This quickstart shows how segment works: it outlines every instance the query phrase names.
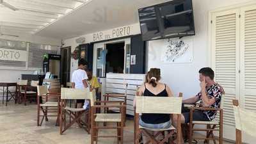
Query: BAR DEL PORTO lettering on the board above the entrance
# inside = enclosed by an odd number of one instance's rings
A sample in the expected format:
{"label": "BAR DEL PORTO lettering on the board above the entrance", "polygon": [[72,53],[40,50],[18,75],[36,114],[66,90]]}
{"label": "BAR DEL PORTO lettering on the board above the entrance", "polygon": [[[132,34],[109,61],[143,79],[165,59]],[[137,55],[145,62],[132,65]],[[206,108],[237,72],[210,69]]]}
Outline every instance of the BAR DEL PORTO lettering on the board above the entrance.
{"label": "BAR DEL PORTO lettering on the board above the entrance", "polygon": [[93,42],[101,41],[101,40],[109,40],[112,38],[119,38],[119,37],[129,36],[129,35],[131,35],[131,27],[124,26],[121,28],[113,29],[111,32],[109,31],[109,33],[103,33],[103,32],[93,33]]}

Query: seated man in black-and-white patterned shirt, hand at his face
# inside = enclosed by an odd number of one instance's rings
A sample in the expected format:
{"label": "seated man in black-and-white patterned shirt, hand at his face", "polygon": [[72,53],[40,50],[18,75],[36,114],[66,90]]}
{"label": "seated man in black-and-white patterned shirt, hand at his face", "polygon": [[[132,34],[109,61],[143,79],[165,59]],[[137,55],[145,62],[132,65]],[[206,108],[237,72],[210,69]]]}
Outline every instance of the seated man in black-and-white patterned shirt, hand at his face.
{"label": "seated man in black-and-white patterned shirt, hand at his face", "polygon": [[[214,71],[209,67],[204,67],[199,70],[200,92],[189,99],[183,100],[184,104],[195,104],[199,102],[198,107],[219,108],[221,95],[224,94],[220,84],[214,82]],[[193,120],[196,121],[211,121],[215,118],[217,111],[195,111]],[[189,109],[182,106],[181,123],[189,123]],[[177,116],[174,123],[177,124]],[[182,143],[184,143],[182,139]]]}

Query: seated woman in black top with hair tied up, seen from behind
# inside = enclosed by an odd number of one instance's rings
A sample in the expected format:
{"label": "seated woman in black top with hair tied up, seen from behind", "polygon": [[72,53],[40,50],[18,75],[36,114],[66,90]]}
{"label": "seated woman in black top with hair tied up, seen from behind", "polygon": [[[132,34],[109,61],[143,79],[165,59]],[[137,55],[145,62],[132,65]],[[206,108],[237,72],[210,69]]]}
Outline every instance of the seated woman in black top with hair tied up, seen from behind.
{"label": "seated woman in black top with hair tied up, seen from behind", "polygon": [[[159,68],[150,68],[147,73],[147,81],[139,88],[138,96],[172,97],[172,90],[166,84],[159,82],[160,73]],[[135,104],[134,100],[134,107]],[[171,125],[170,115],[145,113],[141,115],[139,124],[152,129],[165,129]]]}

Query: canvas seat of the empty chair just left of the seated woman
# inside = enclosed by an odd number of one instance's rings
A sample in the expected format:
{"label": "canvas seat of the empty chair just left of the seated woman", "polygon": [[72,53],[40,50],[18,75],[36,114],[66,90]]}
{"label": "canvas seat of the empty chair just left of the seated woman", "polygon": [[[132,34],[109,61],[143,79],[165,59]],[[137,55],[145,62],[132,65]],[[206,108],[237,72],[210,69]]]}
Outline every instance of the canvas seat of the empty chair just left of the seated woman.
{"label": "canvas seat of the empty chair just left of the seated woman", "polygon": [[95,122],[121,122],[120,113],[97,113]]}

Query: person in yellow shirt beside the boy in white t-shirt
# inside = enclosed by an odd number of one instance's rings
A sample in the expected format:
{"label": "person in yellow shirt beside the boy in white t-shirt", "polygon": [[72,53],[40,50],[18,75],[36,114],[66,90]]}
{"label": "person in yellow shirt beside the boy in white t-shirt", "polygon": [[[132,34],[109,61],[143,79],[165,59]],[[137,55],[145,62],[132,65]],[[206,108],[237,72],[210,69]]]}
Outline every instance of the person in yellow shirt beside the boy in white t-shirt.
{"label": "person in yellow shirt beside the boy in white t-shirt", "polygon": [[88,83],[90,84],[90,88],[96,90],[97,100],[99,100],[99,97],[100,97],[99,88],[101,87],[100,83],[99,83],[97,77],[92,76],[92,70],[90,70],[90,69],[86,70],[86,74],[88,76]]}

